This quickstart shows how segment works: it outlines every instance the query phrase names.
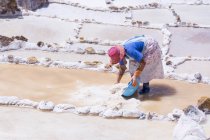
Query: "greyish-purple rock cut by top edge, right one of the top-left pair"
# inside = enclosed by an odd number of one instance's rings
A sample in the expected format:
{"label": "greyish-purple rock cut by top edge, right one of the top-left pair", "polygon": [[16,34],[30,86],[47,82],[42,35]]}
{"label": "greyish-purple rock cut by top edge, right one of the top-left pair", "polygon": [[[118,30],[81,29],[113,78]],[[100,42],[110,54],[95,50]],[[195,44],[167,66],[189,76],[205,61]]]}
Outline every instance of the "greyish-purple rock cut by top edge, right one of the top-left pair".
{"label": "greyish-purple rock cut by top edge, right one of the top-left pair", "polygon": [[48,4],[48,0],[17,0],[17,5],[28,10],[36,10]]}

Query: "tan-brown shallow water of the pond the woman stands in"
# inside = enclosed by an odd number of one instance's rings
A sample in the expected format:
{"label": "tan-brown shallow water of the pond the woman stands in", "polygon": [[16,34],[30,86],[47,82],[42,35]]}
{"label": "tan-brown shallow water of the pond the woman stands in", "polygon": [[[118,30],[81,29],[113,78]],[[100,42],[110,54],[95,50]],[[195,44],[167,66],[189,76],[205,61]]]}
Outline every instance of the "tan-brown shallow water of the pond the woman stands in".
{"label": "tan-brown shallow water of the pond the woman stands in", "polygon": [[[4,64],[0,65],[0,73],[1,96],[17,96],[35,101],[50,100],[55,103],[74,103],[81,106],[94,105],[93,98],[103,101],[104,93],[100,92],[100,87],[113,86],[116,78],[115,74],[110,73]],[[126,84],[129,79],[128,75],[125,76],[122,83]],[[91,90],[90,93],[81,92],[82,89],[93,86],[97,90],[99,88],[99,92],[94,90],[92,94]],[[145,97],[140,102],[139,108],[166,114],[174,108],[182,109],[190,104],[195,105],[199,97],[209,96],[209,91],[210,86],[205,84],[153,80],[152,96]],[[76,96],[75,93],[77,93]],[[88,93],[88,96],[84,93]],[[111,102],[115,101],[118,102],[115,99],[111,100]]]}

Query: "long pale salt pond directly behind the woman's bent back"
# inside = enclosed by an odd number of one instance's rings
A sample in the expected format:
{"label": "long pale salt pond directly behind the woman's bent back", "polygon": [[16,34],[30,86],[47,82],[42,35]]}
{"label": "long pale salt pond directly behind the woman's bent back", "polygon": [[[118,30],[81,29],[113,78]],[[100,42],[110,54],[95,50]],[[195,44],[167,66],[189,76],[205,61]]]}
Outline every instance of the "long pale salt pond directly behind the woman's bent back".
{"label": "long pale salt pond directly behind the woman's bent back", "polygon": [[101,40],[124,41],[136,35],[150,35],[154,37],[159,44],[162,44],[162,33],[158,29],[146,29],[137,27],[102,25],[102,24],[84,24],[79,36],[84,38],[98,38]]}

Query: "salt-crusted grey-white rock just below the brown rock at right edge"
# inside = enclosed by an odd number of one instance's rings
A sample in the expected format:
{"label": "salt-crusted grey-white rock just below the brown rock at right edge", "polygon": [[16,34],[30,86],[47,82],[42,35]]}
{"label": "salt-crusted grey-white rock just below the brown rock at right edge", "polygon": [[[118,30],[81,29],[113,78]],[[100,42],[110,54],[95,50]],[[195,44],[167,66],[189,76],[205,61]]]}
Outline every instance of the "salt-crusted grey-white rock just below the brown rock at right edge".
{"label": "salt-crusted grey-white rock just below the brown rock at right edge", "polygon": [[198,123],[204,122],[206,120],[205,113],[199,110],[195,106],[190,105],[187,108],[185,108],[183,111],[187,117],[191,118],[192,120]]}

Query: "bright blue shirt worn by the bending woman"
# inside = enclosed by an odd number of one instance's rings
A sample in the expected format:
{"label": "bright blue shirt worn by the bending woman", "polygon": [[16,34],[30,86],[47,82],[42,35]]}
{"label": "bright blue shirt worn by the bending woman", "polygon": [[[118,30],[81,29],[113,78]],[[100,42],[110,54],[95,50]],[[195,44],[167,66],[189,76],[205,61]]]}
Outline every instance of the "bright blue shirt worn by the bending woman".
{"label": "bright blue shirt worn by the bending woman", "polygon": [[[144,36],[135,36],[129,40],[127,40],[124,44],[123,47],[125,49],[125,54],[126,57],[131,57],[137,62],[141,62],[143,58],[142,51],[144,49],[144,42],[140,41],[139,38],[142,38]],[[120,65],[124,65],[123,60],[121,60]]]}

